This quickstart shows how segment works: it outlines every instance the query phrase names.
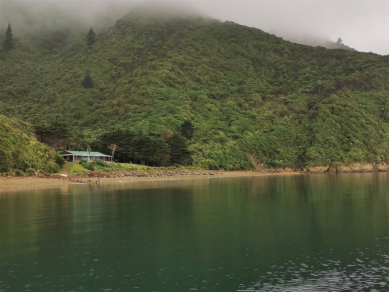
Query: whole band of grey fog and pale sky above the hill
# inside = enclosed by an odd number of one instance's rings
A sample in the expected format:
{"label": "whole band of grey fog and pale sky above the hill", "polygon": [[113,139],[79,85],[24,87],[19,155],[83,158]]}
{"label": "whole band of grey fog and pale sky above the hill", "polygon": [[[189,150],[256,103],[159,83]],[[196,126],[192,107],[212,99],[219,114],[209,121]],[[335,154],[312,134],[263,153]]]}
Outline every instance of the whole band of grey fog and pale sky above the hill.
{"label": "whole band of grey fog and pale sky above the hill", "polygon": [[[9,23],[14,36],[24,28],[63,25],[104,31],[148,0],[0,0],[1,33]],[[256,27],[291,41],[318,45],[325,40],[357,51],[389,55],[388,0],[176,0],[158,1],[169,11],[201,13],[221,21]],[[60,17],[65,16],[65,17]]]}

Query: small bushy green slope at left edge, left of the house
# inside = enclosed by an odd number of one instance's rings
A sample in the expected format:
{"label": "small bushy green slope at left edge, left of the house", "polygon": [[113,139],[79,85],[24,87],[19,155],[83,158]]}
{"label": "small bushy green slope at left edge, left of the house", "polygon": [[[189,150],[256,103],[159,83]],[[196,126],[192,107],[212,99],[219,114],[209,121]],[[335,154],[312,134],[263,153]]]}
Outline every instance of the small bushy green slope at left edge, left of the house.
{"label": "small bushy green slope at left edge, left of the house", "polygon": [[0,115],[0,172],[21,175],[57,172],[64,160],[34,138],[31,125]]}

